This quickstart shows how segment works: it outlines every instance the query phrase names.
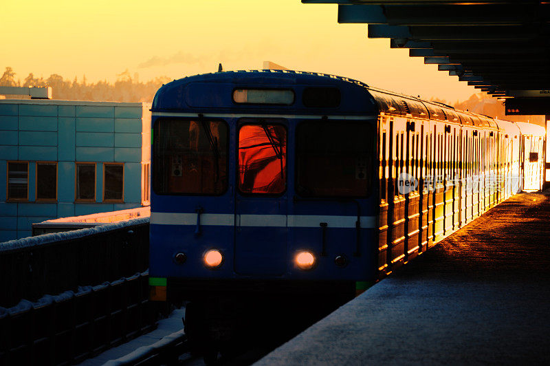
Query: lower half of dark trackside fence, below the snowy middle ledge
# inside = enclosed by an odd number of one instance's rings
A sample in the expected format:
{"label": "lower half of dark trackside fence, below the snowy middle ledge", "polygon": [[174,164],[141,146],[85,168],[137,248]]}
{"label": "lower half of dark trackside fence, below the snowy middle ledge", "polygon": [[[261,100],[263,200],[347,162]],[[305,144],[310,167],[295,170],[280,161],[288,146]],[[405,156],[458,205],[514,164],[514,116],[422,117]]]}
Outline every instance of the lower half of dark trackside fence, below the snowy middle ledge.
{"label": "lower half of dark trackside fence, below the snowy middle ledge", "polygon": [[148,272],[0,310],[0,365],[80,363],[155,327]]}

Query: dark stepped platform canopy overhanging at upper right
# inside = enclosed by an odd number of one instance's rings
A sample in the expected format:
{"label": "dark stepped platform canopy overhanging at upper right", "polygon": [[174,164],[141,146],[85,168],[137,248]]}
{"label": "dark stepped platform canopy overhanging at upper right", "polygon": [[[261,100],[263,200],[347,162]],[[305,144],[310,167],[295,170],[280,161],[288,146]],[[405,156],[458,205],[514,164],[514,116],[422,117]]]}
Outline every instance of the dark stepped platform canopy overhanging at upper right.
{"label": "dark stepped platform canopy overhanging at upper right", "polygon": [[550,0],[302,2],[338,3],[338,23],[368,23],[369,38],[493,96],[549,95]]}

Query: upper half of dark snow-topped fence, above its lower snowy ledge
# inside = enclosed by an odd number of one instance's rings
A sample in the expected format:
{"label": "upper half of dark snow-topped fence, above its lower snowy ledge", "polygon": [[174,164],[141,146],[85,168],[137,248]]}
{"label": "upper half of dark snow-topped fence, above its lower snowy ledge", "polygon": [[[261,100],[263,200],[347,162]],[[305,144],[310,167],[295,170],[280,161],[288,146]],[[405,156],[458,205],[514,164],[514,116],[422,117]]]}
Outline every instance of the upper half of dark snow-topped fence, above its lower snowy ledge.
{"label": "upper half of dark snow-topped fence, above its lower snowy ledge", "polygon": [[148,217],[0,244],[0,307],[148,268]]}

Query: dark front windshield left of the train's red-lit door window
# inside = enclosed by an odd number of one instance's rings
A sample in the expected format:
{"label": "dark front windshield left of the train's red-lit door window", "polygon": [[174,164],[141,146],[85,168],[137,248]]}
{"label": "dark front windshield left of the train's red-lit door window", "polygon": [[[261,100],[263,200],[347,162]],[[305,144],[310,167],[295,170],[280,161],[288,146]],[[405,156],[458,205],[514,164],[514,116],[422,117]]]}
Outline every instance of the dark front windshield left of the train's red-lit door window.
{"label": "dark front windshield left of the train's red-lit door window", "polygon": [[219,120],[162,119],[153,132],[158,194],[220,195],[228,186],[228,126]]}

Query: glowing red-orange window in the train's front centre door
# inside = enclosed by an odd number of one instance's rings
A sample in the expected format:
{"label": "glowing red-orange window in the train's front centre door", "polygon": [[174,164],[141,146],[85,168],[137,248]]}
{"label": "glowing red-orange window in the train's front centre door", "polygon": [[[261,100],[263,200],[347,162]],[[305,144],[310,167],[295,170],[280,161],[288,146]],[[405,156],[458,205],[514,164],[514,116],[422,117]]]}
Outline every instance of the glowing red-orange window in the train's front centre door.
{"label": "glowing red-orange window in the train's front centre door", "polygon": [[239,129],[239,191],[280,194],[286,189],[287,130],[283,125]]}

